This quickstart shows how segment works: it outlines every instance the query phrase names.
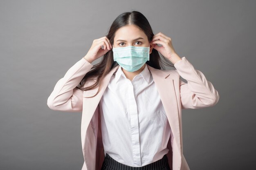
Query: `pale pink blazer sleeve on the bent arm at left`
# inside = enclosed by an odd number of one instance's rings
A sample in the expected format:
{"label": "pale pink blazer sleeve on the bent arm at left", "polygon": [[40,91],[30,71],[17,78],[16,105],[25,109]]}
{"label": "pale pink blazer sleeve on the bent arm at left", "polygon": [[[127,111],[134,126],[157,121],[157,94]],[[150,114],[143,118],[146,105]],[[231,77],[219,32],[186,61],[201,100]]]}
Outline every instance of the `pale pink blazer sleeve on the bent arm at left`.
{"label": "pale pink blazer sleeve on the bent arm at left", "polygon": [[56,83],[47,99],[48,107],[52,110],[81,112],[83,110],[83,91],[76,86],[92,66],[85,58],[76,62]]}

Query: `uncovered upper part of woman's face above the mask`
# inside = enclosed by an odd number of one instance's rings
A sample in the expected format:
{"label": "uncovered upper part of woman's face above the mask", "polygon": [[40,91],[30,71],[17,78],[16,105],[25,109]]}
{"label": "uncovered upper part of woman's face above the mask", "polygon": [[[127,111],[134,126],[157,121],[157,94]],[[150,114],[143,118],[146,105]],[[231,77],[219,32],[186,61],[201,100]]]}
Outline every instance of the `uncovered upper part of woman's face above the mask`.
{"label": "uncovered upper part of woman's face above the mask", "polygon": [[150,44],[150,51],[152,51],[152,43],[148,42],[146,34],[135,25],[123,26],[118,29],[114,37],[114,48],[125,46],[144,46],[148,47]]}

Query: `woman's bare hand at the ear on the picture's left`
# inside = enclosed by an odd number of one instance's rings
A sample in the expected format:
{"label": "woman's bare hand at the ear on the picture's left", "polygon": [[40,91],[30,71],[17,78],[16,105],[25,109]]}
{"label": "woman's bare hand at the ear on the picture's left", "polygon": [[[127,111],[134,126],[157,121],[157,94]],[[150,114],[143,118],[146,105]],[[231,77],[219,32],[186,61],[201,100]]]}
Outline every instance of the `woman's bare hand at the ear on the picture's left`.
{"label": "woman's bare hand at the ear on the picture's left", "polygon": [[[104,46],[104,48],[102,49],[101,46]],[[102,55],[106,54],[111,49],[112,45],[110,44],[110,40],[106,36],[101,37],[99,39],[93,40],[92,46],[84,58],[91,63]]]}

